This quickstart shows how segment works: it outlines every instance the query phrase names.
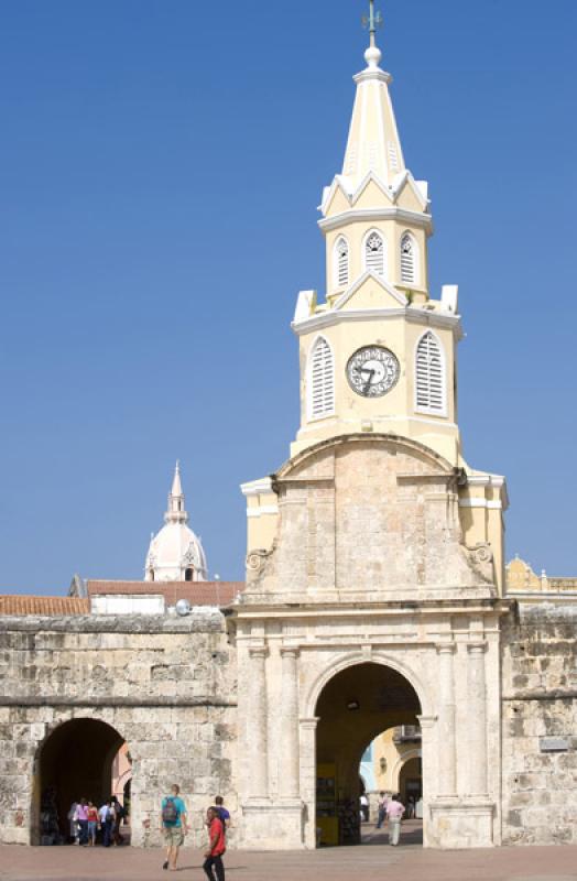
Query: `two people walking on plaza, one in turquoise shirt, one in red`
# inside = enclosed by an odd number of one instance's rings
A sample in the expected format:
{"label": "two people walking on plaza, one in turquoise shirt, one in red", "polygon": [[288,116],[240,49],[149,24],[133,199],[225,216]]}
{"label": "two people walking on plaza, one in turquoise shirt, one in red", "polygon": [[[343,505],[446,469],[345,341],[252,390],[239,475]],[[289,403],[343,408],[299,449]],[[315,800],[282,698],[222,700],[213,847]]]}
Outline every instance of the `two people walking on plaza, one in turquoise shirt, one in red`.
{"label": "two people walking on plaza, one in turquoise shirt, one in red", "polygon": [[[222,796],[217,795],[215,804],[206,812],[208,846],[204,853],[203,869],[209,881],[225,881],[222,856],[227,849],[226,835],[229,825],[230,814],[225,807]],[[178,850],[188,831],[186,805],[181,798],[181,788],[176,783],[171,786],[171,794],[162,800],[161,830],[166,844],[166,859],[162,868],[175,872]]]}

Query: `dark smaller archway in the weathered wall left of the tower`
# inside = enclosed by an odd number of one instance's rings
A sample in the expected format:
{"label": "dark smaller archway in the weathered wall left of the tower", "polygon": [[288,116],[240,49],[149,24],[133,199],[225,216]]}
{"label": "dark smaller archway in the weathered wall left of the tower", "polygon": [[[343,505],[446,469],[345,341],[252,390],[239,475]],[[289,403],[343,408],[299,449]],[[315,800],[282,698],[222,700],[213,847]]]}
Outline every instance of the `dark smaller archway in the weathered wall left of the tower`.
{"label": "dark smaller archway in the weathered wall left of the tower", "polygon": [[119,758],[123,747],[121,735],[98,719],[70,719],[48,735],[35,764],[33,845],[68,842],[70,805],[84,797],[100,807],[117,794],[115,772],[128,754]]}

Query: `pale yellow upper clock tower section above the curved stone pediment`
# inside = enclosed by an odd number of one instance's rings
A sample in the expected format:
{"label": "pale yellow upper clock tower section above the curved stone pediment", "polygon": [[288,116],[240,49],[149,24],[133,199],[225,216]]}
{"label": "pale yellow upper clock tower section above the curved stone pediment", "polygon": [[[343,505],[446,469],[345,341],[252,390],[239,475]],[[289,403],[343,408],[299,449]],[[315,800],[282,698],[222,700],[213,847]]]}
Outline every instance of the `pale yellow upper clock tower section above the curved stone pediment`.
{"label": "pale yellow upper clock tower section above the curved stone pediment", "polygon": [[301,427],[291,453],[338,435],[392,433],[458,465],[458,290],[429,291],[427,184],[405,165],[372,12],[370,23],[342,171],[320,203],[326,296],[301,291],[292,324]]}

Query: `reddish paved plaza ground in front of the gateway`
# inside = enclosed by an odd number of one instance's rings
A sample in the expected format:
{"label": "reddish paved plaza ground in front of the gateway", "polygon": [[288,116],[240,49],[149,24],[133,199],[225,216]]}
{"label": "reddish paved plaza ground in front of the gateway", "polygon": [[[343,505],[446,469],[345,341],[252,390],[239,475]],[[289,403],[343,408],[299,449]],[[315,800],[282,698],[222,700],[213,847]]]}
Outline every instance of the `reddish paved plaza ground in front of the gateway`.
{"label": "reddish paved plaza ground in front of the gateway", "polygon": [[[577,847],[423,850],[418,824],[407,822],[401,845],[369,830],[360,847],[311,852],[230,851],[228,881],[576,881]],[[404,844],[403,844],[404,841]],[[0,847],[1,881],[203,881],[198,850],[184,848],[177,873],[163,872],[160,850],[138,848]]]}

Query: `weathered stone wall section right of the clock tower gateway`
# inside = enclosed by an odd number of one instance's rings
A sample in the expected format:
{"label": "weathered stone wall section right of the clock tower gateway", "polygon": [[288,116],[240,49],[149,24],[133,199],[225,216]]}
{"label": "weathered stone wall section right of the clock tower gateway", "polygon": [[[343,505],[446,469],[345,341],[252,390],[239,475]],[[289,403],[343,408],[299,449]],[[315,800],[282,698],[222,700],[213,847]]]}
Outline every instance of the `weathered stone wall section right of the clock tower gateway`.
{"label": "weathered stone wall section right of the clock tower gateway", "polygon": [[576,635],[577,606],[503,623],[503,844],[577,842]]}

